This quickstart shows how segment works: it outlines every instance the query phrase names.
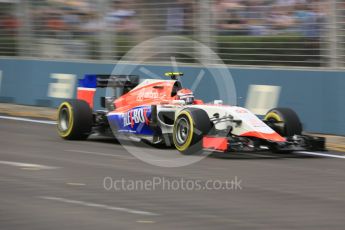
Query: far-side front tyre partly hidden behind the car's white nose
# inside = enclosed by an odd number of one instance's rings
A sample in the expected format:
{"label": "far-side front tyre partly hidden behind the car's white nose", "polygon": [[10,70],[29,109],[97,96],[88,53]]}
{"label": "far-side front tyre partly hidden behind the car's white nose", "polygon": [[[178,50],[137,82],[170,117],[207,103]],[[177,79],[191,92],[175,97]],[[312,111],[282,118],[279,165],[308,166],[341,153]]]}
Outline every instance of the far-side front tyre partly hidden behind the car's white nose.
{"label": "far-side front tyre partly hidden behind the car's white nose", "polygon": [[264,120],[270,123],[272,128],[284,137],[302,134],[302,124],[296,114],[290,108],[274,108],[267,112]]}

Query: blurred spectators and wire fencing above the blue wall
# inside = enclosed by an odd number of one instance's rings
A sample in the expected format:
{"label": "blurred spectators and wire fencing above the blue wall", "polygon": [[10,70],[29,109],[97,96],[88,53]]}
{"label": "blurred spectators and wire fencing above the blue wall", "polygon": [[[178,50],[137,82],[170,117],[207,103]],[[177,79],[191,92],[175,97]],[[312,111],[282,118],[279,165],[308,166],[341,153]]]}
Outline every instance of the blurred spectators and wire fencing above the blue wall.
{"label": "blurred spectators and wire fencing above the blue wall", "polygon": [[226,64],[344,68],[345,1],[0,1],[0,56],[119,60],[162,35],[200,41]]}

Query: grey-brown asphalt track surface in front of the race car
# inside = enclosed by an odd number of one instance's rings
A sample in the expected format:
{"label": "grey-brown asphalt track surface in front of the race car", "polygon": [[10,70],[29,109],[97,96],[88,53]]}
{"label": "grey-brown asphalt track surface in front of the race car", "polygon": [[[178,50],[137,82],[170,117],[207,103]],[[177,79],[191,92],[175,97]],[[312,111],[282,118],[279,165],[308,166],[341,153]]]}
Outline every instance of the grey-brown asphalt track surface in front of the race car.
{"label": "grey-brown asphalt track surface in front of the race car", "polygon": [[[0,146],[0,229],[345,226],[343,159],[246,154],[243,159],[209,157],[187,167],[160,168],[137,160],[116,143],[67,142],[57,137],[52,125],[2,119]],[[242,190],[103,188],[105,177],[224,181],[235,176]]]}

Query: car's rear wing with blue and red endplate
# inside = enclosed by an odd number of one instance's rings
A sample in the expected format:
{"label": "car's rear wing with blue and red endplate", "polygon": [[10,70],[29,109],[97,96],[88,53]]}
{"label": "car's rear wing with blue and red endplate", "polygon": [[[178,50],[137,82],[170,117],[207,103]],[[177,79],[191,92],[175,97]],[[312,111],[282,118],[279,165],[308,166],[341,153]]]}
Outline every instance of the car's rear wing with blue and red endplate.
{"label": "car's rear wing with blue and red endplate", "polygon": [[129,88],[139,84],[137,75],[105,75],[86,74],[78,80],[77,99],[86,101],[90,108],[94,106],[94,96],[97,88]]}

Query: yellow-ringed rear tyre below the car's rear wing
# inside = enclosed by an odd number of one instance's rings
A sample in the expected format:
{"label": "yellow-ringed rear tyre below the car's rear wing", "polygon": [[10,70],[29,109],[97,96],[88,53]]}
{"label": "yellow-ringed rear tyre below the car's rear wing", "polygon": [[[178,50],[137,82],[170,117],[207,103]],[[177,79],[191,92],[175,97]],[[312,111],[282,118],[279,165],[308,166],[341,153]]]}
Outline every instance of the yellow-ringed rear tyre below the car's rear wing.
{"label": "yellow-ringed rear tyre below the car's rear wing", "polygon": [[66,140],[85,140],[92,129],[92,110],[82,100],[69,100],[58,108],[57,130]]}

